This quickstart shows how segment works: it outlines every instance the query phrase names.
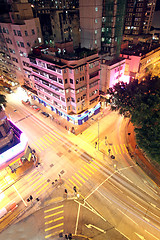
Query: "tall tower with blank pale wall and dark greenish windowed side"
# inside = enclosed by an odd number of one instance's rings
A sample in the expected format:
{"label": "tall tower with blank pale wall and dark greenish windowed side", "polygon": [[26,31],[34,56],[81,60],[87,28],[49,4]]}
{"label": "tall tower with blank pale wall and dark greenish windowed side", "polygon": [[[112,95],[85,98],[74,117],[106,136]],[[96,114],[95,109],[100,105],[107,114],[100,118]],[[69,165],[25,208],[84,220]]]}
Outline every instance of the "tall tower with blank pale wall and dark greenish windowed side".
{"label": "tall tower with blank pale wall and dark greenish windowed side", "polygon": [[126,0],[79,0],[81,46],[118,56]]}

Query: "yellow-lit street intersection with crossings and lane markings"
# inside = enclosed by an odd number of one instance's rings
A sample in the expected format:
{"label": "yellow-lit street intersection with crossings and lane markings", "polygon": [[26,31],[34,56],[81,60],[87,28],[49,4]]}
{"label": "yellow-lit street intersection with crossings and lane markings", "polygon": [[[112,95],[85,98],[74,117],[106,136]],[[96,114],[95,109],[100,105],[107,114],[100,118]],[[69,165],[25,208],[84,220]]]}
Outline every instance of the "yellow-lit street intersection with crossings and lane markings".
{"label": "yellow-lit street intersection with crossings and lane markings", "polygon": [[[110,111],[100,120],[95,116],[88,121],[88,128],[75,136],[22,105],[14,94],[8,96],[8,116],[25,132],[40,159],[40,165],[18,181],[6,180],[7,187],[1,178],[1,207],[15,201],[17,214],[26,209],[21,219],[28,214],[16,224],[19,230],[16,225],[8,228],[12,234],[22,231],[24,239],[39,240],[53,239],[60,232],[95,240],[159,240],[159,188],[128,154],[123,117]],[[4,171],[1,174],[4,176]],[[30,195],[33,200],[27,202]],[[1,230],[7,221],[0,222]],[[33,236],[27,235],[32,233],[26,231],[29,222],[35,226]],[[5,234],[8,230],[0,239],[5,239]],[[21,239],[20,233],[18,237]],[[13,235],[7,235],[9,239]]]}

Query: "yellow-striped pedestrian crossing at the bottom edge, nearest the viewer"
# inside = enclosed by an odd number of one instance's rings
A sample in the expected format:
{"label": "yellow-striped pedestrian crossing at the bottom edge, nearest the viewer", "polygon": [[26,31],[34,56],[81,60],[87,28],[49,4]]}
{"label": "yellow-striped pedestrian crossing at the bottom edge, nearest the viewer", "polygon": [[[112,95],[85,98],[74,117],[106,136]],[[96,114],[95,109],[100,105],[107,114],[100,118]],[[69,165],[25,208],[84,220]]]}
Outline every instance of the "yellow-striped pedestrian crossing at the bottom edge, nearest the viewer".
{"label": "yellow-striped pedestrian crossing at the bottom edge, nearest the viewer", "polygon": [[47,207],[44,210],[45,239],[54,237],[64,232],[64,205]]}

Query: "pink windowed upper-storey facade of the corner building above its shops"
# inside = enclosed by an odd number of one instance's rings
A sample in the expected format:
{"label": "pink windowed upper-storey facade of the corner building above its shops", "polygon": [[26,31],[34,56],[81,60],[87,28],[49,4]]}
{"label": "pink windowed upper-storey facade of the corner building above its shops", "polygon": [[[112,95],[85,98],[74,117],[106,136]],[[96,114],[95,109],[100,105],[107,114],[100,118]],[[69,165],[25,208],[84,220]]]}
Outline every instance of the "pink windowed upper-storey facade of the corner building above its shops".
{"label": "pink windowed upper-storey facade of the corner building above its shops", "polygon": [[98,54],[80,60],[61,59],[61,63],[60,66],[58,62],[52,64],[49,60],[31,59],[35,90],[38,97],[56,112],[79,114],[98,102]]}

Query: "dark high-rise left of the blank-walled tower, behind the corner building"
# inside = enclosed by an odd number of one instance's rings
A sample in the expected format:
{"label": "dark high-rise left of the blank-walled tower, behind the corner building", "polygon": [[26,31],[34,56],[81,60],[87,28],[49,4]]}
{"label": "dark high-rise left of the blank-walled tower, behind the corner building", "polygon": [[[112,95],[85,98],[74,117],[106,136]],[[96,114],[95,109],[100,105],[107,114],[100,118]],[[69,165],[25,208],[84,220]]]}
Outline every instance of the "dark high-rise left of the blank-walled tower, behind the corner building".
{"label": "dark high-rise left of the blank-walled tower, behind the corner building", "polygon": [[30,0],[32,8],[40,19],[42,34],[46,44],[73,41],[79,47],[79,1],[78,0]]}

